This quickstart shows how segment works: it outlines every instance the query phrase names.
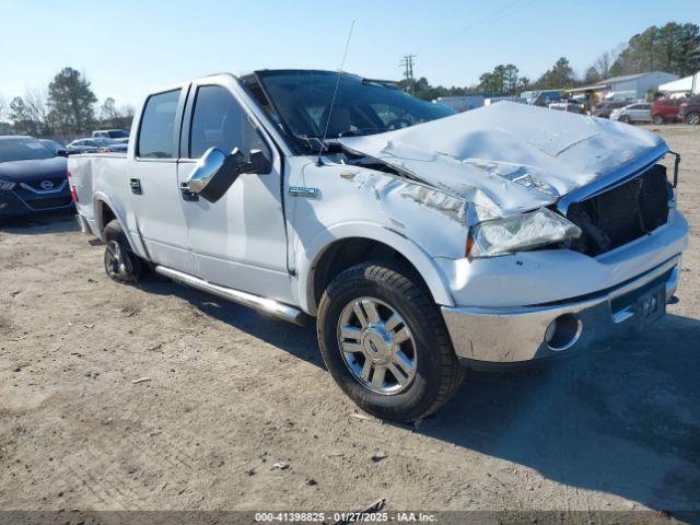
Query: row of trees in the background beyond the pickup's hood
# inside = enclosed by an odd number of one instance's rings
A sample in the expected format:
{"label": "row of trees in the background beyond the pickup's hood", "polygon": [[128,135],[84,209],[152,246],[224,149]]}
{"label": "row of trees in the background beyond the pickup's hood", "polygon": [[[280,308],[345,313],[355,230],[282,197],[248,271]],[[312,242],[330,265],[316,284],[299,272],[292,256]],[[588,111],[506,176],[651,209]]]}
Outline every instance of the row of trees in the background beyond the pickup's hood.
{"label": "row of trees in the background beyond the pickup's hood", "polygon": [[700,27],[692,23],[669,22],[661,27],[652,25],[632,36],[621,49],[600,55],[576,75],[569,59],[560,57],[538,79],[521,75],[513,63],[498,65],[479,77],[479,82],[459,88],[431,85],[423,77],[405,79],[399,85],[419,98],[483,93],[490,96],[513,96],[527,90],[571,89],[593,84],[610,77],[665,71],[688,77],[700,71]]}

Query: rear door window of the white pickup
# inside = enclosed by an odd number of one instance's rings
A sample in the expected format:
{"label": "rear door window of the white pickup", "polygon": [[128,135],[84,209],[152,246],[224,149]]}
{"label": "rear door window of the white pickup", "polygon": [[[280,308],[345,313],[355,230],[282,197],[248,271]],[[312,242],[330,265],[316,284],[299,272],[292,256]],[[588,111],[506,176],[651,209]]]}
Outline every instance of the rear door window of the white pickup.
{"label": "rear door window of the white pickup", "polygon": [[173,159],[173,133],[179,90],[151,96],[145,103],[139,130],[137,155],[141,159]]}

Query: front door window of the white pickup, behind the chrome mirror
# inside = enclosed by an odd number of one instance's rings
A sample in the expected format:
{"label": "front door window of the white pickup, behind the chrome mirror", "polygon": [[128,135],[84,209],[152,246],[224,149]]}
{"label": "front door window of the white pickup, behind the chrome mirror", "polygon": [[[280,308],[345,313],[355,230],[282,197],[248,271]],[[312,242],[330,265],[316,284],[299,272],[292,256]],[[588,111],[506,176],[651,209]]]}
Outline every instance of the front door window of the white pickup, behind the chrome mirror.
{"label": "front door window of the white pickup, behind the chrome mirror", "polygon": [[212,147],[224,153],[238,148],[246,156],[250,150],[262,150],[271,159],[267,144],[231,92],[220,85],[202,85],[195,100],[189,158],[199,159]]}

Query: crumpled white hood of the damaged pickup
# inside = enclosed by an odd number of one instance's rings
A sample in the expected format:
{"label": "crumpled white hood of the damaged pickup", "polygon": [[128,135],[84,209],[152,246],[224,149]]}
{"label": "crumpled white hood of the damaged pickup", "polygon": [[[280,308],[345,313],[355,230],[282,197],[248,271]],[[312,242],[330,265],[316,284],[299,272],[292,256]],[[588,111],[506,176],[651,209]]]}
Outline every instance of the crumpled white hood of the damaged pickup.
{"label": "crumpled white hood of the damaged pickup", "polygon": [[511,102],[339,142],[497,215],[551,205],[644,154],[667,151],[640,128]]}

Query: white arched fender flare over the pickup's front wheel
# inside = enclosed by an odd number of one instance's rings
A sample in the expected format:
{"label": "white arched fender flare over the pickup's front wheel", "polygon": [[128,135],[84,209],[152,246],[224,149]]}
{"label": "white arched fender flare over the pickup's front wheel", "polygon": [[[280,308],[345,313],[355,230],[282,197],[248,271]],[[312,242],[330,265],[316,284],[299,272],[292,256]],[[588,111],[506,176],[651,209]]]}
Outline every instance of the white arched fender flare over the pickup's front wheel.
{"label": "white arched fender flare over the pickup's front wheel", "polygon": [[432,257],[405,235],[386,226],[374,223],[342,223],[319,232],[311,243],[300,252],[295,267],[299,275],[299,300],[302,310],[316,314],[314,298],[314,271],[326,250],[343,238],[366,238],[385,244],[401,254],[418,270],[425,281],[436,304],[454,306],[450,288],[432,260]]}

